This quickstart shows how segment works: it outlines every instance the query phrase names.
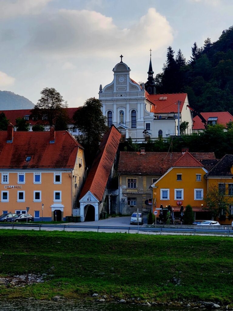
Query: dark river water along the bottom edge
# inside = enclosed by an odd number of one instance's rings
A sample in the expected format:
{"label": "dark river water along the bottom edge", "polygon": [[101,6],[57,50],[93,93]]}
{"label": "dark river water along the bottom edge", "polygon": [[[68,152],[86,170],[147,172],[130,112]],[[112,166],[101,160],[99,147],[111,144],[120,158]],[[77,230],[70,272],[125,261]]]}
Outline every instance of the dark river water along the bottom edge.
{"label": "dark river water along the bottom edge", "polygon": [[78,301],[64,302],[29,299],[0,300],[0,311],[175,311],[177,309],[148,307],[138,304],[80,303]]}

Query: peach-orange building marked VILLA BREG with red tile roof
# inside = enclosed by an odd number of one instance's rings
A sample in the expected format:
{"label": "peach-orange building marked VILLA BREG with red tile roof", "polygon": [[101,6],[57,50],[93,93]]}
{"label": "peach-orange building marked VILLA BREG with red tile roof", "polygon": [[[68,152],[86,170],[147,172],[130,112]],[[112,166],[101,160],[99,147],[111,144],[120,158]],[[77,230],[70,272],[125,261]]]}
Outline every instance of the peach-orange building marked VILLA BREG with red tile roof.
{"label": "peach-orange building marked VILLA BREG with red tile roof", "polygon": [[[63,220],[77,207],[85,177],[83,147],[67,131],[0,132],[0,213]],[[42,207],[43,206],[43,207]]]}

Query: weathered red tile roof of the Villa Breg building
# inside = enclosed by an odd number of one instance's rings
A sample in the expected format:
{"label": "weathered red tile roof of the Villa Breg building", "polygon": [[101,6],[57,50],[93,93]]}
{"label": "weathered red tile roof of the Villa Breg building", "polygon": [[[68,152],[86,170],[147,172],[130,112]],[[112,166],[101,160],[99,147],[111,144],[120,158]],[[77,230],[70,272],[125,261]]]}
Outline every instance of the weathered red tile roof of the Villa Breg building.
{"label": "weathered red tile roof of the Villa Breg building", "polygon": [[[14,132],[7,143],[7,131],[0,131],[1,169],[73,169],[81,145],[67,131],[56,131],[50,144],[50,132]],[[26,162],[26,156],[31,156]]]}

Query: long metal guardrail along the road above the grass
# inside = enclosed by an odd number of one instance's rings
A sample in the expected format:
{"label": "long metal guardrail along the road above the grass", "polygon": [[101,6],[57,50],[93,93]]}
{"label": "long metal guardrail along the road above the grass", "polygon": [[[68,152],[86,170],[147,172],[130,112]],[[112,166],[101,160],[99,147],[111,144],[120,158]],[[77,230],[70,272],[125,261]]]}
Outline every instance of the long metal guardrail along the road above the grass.
{"label": "long metal guardrail along the road above the grass", "polygon": [[[96,229],[97,232],[99,232],[99,230],[125,230],[128,231],[128,233],[130,233],[131,231],[137,231],[138,227],[137,226],[128,226],[128,227],[123,227],[123,226],[87,226],[87,225],[55,225],[55,224],[19,224],[19,223],[11,223],[11,224],[7,224],[7,223],[1,223],[0,224],[0,228],[1,227],[8,227],[8,228],[12,228],[12,229],[17,229],[17,228],[22,228],[22,227],[29,227],[31,229],[33,228],[38,228],[38,230],[41,229],[48,229],[48,228],[57,228],[57,229],[63,229],[65,231],[65,229]],[[158,234],[164,234],[164,233],[190,233],[190,234],[217,234],[217,235],[228,235],[231,236],[233,235],[233,230],[227,230],[227,229],[202,229],[202,228],[191,228],[191,229],[179,229],[179,228],[146,228],[146,227],[139,227],[139,231],[144,231],[144,232],[154,232],[154,233],[158,233]]]}

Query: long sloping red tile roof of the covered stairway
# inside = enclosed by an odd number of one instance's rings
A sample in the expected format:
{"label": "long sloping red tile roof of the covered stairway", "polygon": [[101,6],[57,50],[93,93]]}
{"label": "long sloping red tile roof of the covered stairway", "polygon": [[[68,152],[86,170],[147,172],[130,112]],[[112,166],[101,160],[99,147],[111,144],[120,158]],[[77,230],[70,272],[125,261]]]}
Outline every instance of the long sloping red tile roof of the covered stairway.
{"label": "long sloping red tile roof of the covered stairway", "polygon": [[121,133],[114,125],[103,135],[99,151],[82,189],[80,199],[90,191],[99,201],[102,200],[120,139]]}

